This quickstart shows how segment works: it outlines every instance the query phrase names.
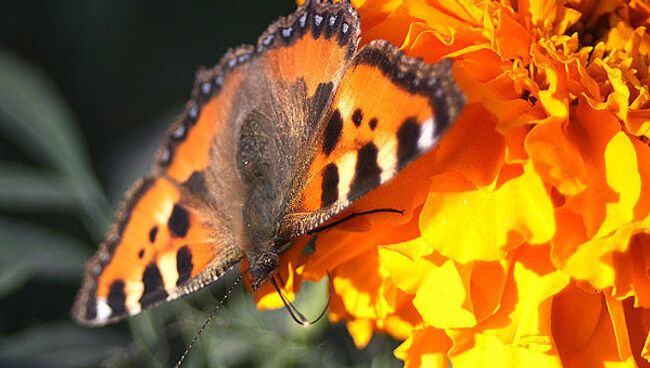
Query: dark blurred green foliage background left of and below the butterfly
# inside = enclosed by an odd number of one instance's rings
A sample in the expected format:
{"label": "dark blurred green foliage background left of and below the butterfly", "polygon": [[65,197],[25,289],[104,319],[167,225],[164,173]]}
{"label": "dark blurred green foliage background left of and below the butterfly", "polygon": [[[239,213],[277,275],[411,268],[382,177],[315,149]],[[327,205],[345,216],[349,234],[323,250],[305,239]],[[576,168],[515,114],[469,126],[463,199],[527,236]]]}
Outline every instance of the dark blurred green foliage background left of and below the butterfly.
{"label": "dark blurred green foliage background left of and below the butterfly", "polygon": [[[69,308],[122,193],[144,174],[194,72],[253,43],[291,1],[0,0],[0,367],[169,366],[235,275],[101,329]],[[305,288],[308,316],[327,282]],[[342,325],[304,328],[238,287],[186,367],[385,367]]]}

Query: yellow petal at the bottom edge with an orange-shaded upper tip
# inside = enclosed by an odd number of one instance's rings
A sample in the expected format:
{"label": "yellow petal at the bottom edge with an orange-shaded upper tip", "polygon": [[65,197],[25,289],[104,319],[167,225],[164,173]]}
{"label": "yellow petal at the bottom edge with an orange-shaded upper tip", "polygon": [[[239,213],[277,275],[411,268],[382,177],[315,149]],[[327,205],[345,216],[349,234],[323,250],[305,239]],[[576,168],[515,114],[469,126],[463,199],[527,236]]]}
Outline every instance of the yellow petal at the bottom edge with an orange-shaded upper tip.
{"label": "yellow petal at the bottom edge with an orange-shaded upper tip", "polygon": [[499,311],[472,329],[447,330],[454,367],[561,367],[549,322],[552,297],[569,277],[553,269],[547,251],[519,248]]}

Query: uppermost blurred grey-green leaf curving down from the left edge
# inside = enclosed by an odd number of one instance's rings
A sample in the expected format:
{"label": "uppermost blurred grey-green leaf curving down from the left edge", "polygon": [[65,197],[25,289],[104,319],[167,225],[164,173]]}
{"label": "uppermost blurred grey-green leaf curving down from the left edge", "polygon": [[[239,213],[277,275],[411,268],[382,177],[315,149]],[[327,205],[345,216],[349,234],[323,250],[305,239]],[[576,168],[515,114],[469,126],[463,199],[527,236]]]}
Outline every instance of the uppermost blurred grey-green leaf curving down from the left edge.
{"label": "uppermost blurred grey-green leaf curving down from the left edge", "polygon": [[106,227],[110,206],[91,170],[72,113],[47,78],[1,50],[0,130],[34,158],[65,174],[67,194],[81,198],[93,235]]}

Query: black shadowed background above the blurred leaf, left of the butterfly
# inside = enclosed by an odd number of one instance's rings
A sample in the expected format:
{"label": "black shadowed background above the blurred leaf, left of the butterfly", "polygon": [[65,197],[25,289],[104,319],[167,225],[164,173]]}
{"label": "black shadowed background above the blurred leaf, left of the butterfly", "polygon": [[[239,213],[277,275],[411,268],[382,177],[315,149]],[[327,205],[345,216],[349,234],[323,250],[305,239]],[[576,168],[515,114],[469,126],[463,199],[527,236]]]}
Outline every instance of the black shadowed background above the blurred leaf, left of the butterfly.
{"label": "black shadowed background above the blurred leaf, left of the butterfly", "polygon": [[117,142],[159,130],[155,118],[180,111],[199,66],[255,43],[295,9],[286,0],[2,3],[0,46],[54,82],[102,181]]}

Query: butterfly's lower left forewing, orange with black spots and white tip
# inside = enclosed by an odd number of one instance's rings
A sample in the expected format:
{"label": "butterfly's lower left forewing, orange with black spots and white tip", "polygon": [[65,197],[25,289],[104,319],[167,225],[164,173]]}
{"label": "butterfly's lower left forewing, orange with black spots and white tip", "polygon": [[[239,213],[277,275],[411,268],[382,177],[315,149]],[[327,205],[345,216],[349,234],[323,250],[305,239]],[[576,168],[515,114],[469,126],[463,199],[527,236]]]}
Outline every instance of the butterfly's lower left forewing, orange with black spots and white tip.
{"label": "butterfly's lower left forewing, orange with black spots and white tip", "polygon": [[86,265],[75,319],[88,325],[114,322],[196,290],[225,272],[241,252],[232,234],[206,217],[173,181],[138,180]]}

